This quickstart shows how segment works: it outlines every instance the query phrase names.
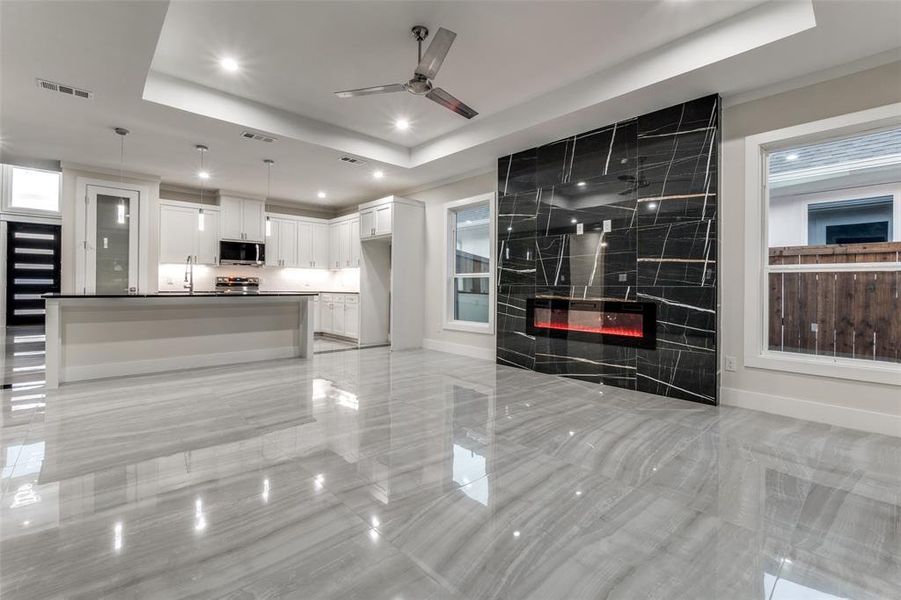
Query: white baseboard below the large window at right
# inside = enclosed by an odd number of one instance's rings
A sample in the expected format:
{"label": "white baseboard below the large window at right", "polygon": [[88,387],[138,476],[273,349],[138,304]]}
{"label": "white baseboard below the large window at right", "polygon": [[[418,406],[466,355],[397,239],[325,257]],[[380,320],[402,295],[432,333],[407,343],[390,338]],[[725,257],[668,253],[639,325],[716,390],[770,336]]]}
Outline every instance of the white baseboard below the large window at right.
{"label": "white baseboard below the large window at right", "polygon": [[901,415],[727,387],[720,389],[720,403],[827,425],[901,437]]}

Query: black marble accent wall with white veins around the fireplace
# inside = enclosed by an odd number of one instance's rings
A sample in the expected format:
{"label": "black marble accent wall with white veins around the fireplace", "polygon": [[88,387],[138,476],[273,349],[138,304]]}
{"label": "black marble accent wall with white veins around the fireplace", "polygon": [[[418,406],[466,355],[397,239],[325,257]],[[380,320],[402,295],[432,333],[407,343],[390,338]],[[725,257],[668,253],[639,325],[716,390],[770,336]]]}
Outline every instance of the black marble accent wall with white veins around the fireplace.
{"label": "black marble accent wall with white veins around the fireplace", "polygon": [[[717,403],[719,114],[707,96],[498,160],[499,363]],[[527,335],[536,296],[654,302],[657,348]]]}

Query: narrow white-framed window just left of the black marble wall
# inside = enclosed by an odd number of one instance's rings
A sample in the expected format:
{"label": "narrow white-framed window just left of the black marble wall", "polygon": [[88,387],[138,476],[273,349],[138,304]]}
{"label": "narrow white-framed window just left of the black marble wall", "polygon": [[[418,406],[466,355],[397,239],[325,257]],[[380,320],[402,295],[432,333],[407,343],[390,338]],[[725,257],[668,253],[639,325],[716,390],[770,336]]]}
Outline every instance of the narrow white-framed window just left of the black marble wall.
{"label": "narrow white-framed window just left of the black marble wall", "polygon": [[447,207],[448,329],[492,331],[492,199],[489,194]]}

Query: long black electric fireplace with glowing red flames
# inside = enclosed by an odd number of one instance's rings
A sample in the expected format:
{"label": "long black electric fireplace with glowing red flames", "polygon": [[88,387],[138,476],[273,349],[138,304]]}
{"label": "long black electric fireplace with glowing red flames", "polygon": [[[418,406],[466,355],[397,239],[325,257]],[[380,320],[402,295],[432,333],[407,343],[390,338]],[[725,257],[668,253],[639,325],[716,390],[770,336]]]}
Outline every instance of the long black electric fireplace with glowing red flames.
{"label": "long black electric fireplace with glowing red flames", "polygon": [[526,333],[653,350],[656,309],[652,302],[528,298]]}

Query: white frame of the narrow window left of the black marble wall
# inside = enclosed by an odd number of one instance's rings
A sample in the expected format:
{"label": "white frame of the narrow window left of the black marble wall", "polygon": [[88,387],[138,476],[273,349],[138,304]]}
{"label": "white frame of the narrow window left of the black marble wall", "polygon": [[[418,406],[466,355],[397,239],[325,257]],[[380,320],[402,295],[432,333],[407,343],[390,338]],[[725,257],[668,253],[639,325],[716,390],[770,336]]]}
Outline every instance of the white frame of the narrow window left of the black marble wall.
{"label": "white frame of the narrow window left of the black marble wall", "polygon": [[[488,204],[488,272],[464,277],[488,280],[488,322],[461,321],[454,319],[454,286],[459,275],[456,273],[456,227],[455,213],[464,207]],[[495,202],[494,193],[479,194],[444,204],[444,324],[443,329],[468,333],[494,334],[495,321]]]}

